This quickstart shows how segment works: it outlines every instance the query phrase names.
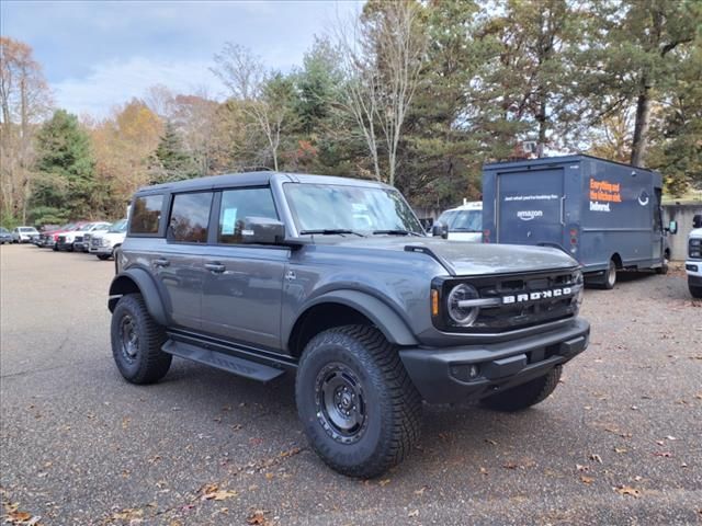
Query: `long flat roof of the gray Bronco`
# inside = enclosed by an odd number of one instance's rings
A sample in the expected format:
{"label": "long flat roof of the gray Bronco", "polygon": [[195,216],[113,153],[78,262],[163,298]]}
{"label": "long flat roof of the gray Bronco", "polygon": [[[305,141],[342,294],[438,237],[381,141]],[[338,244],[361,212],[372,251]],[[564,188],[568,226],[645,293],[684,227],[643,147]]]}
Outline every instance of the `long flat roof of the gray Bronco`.
{"label": "long flat roof of the gray Bronco", "polygon": [[188,179],[185,181],[155,184],[151,186],[144,186],[136,193],[141,195],[158,194],[165,192],[194,192],[199,190],[215,190],[236,186],[267,186],[271,184],[271,181],[273,180],[290,183],[342,184],[347,186],[377,186],[387,188],[392,187],[384,183],[367,179],[267,171],[224,173],[222,175],[211,175],[207,178]]}

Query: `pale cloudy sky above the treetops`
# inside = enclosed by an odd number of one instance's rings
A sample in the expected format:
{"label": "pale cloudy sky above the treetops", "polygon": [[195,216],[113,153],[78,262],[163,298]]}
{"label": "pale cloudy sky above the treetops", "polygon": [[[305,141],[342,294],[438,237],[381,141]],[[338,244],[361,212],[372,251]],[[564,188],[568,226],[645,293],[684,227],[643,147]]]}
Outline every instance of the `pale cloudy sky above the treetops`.
{"label": "pale cloudy sky above the treetops", "polygon": [[59,107],[102,117],[157,83],[224,94],[208,68],[225,42],[288,71],[315,34],[359,9],[351,0],[2,0],[0,32],[34,48]]}

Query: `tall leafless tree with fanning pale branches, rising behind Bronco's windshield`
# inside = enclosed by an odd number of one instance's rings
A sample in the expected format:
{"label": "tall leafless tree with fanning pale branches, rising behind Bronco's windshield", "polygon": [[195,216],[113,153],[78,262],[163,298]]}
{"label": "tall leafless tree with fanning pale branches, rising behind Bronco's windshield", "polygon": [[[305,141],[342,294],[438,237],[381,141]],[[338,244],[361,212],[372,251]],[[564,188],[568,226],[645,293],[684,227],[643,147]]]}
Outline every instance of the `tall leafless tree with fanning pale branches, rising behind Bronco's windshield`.
{"label": "tall leafless tree with fanning pale branches, rising behind Bronco's windshield", "polygon": [[341,23],[336,28],[348,80],[344,106],[365,138],[377,179],[382,179],[378,142],[383,142],[390,184],[395,184],[403,125],[427,48],[419,27],[420,9],[411,0],[378,3],[351,24],[350,31]]}

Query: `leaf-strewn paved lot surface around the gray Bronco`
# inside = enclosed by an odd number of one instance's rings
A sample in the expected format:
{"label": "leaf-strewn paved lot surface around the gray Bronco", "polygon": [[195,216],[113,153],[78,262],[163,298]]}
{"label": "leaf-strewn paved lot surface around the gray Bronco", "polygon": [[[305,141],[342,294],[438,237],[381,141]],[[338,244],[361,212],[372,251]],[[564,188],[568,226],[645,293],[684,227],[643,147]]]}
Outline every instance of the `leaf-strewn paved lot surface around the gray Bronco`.
{"label": "leaf-strewn paved lot surface around the gray Bronco", "polygon": [[112,262],[3,245],[1,498],[16,524],[701,524],[702,302],[683,274],[588,290],[590,348],[519,414],[426,407],[376,480],[307,447],[291,379],[113,365]]}

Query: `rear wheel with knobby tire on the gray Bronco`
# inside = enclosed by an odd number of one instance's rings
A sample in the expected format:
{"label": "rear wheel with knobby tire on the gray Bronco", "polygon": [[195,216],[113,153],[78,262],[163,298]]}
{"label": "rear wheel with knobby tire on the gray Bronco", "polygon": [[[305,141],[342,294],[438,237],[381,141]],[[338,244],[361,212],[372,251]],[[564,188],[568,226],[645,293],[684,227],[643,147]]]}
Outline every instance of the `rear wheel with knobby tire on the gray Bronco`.
{"label": "rear wheel with knobby tire on the gray Bronco", "polygon": [[161,351],[166,331],[154,321],[140,294],[126,294],[112,312],[112,356],[122,376],[132,384],[160,380],[172,356]]}

